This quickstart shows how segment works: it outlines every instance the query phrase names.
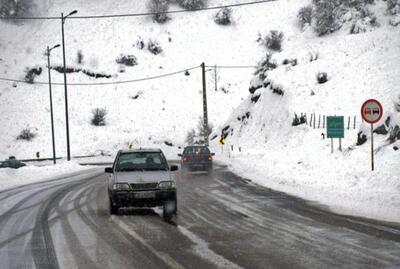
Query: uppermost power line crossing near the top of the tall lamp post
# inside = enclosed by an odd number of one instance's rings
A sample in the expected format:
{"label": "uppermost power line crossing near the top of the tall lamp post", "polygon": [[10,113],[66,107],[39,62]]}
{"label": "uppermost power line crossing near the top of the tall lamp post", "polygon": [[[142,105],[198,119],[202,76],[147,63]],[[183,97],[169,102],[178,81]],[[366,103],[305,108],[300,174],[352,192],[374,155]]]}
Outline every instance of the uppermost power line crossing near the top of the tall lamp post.
{"label": "uppermost power line crossing near the top of the tall lamp post", "polygon": [[[196,12],[196,11],[204,11],[204,10],[214,10],[221,8],[232,8],[232,7],[242,7],[242,6],[250,6],[263,4],[268,2],[274,2],[276,0],[260,0],[260,1],[252,1],[246,3],[238,3],[231,5],[223,5],[223,6],[213,6],[213,7],[204,7],[204,8],[196,8],[192,10],[171,10],[166,12],[145,12],[145,13],[128,13],[128,14],[115,14],[115,15],[92,15],[92,16],[71,16],[68,19],[103,19],[103,18],[121,18],[121,17],[141,17],[141,16],[153,16],[158,14],[174,14],[174,13],[187,13],[187,12]],[[0,19],[4,20],[60,20],[61,17],[58,16],[49,16],[49,17],[12,17],[12,16],[0,16]]]}

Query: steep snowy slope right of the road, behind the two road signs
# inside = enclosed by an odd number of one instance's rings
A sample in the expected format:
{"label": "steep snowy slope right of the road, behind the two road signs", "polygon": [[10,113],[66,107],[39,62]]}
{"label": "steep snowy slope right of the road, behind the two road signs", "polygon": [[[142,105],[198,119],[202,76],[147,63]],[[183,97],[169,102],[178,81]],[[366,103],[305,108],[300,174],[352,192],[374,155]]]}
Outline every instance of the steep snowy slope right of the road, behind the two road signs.
{"label": "steep snowy slope right of the road, behind the two road signs", "polygon": [[[380,26],[366,33],[350,35],[345,27],[324,37],[311,29],[285,33],[283,50],[271,60],[278,67],[267,71],[265,80],[253,78],[253,90],[260,88],[249,94],[220,130],[227,135],[225,161],[242,176],[341,213],[400,222],[400,141],[388,145],[387,135],[375,135],[374,172],[369,140],[355,145],[359,130],[369,138],[369,125],[360,119],[361,105],[368,98],[384,106],[385,116],[376,126],[387,116],[400,124],[393,102],[400,95],[400,27],[388,24],[384,2],[377,1],[371,9],[378,14]],[[297,59],[297,65],[283,65],[284,59]],[[328,74],[328,82],[317,82],[319,72]],[[315,113],[316,125],[321,115],[321,128],[293,127],[295,113],[307,113],[308,121]],[[322,115],[345,116],[343,152],[335,139],[331,154],[330,139],[321,135],[325,133]],[[219,151],[216,141],[214,147]]]}

